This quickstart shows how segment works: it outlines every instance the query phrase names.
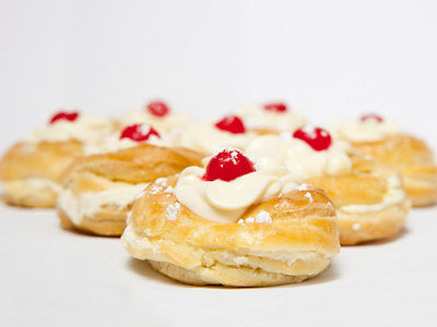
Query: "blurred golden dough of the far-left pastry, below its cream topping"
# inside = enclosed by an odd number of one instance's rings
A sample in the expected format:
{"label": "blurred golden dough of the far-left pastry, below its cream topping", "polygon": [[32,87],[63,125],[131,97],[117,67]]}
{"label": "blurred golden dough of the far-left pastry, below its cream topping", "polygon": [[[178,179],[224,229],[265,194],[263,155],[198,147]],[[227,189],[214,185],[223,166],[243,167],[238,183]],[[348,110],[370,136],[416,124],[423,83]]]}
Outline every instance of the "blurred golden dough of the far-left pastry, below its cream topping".
{"label": "blurred golden dough of the far-left pastry, below its cream topping", "polygon": [[66,168],[82,156],[76,141],[19,143],[0,161],[3,201],[24,207],[54,207]]}

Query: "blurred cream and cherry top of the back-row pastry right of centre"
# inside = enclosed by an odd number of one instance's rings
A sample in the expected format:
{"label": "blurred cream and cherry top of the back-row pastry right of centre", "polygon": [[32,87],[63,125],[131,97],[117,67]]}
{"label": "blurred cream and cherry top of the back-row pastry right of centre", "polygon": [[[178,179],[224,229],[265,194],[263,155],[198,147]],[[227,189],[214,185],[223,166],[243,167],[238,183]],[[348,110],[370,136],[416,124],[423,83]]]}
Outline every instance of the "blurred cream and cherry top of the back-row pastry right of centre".
{"label": "blurred cream and cherry top of the back-row pastry right of centre", "polygon": [[283,102],[247,105],[236,110],[247,128],[258,134],[277,134],[295,131],[307,123],[307,119]]}

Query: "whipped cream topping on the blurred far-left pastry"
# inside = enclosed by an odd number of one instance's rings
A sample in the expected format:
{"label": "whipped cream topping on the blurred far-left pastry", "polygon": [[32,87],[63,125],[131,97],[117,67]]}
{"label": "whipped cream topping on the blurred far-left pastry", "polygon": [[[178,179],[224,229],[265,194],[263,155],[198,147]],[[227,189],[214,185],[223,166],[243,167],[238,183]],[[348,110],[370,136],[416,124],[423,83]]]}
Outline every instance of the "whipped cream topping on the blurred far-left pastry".
{"label": "whipped cream topping on the blurred far-left pastry", "polygon": [[25,142],[66,142],[80,141],[83,143],[97,140],[113,131],[113,122],[109,119],[90,116],[80,116],[75,121],[59,120],[47,124],[27,134]]}

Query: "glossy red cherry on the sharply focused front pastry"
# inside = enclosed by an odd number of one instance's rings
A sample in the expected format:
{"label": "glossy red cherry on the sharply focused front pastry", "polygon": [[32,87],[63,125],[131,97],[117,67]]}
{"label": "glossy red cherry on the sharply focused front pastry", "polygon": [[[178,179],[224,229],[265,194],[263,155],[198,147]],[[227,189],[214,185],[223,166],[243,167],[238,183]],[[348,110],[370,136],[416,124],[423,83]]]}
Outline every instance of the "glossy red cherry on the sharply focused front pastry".
{"label": "glossy red cherry on the sharply focused front pastry", "polygon": [[206,182],[215,180],[231,182],[255,170],[252,161],[240,150],[228,148],[211,158],[202,180]]}

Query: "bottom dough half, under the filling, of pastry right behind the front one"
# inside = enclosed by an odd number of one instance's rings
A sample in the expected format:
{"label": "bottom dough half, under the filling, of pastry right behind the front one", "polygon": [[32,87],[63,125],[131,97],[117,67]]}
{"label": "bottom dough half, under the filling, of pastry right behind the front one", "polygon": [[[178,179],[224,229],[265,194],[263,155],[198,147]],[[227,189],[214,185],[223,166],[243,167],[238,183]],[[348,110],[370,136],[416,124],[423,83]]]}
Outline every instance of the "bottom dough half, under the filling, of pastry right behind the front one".
{"label": "bottom dough half, under the filling, of pastry right behind the front one", "polygon": [[339,208],[340,244],[356,245],[394,237],[402,229],[410,206],[410,199],[404,199],[379,211],[346,213]]}

